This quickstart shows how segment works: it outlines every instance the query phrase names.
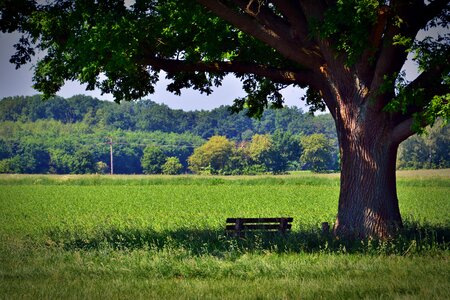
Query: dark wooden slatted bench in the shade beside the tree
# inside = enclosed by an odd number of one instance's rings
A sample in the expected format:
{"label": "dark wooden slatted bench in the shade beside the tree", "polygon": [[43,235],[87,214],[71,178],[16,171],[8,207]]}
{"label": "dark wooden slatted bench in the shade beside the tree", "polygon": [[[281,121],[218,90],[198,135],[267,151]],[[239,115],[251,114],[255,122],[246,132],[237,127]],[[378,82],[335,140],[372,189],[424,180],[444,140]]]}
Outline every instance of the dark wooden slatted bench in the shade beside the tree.
{"label": "dark wooden slatted bench in the shade beside the tree", "polygon": [[237,236],[244,231],[265,230],[279,231],[284,234],[291,230],[294,218],[228,218],[226,230],[233,231]]}

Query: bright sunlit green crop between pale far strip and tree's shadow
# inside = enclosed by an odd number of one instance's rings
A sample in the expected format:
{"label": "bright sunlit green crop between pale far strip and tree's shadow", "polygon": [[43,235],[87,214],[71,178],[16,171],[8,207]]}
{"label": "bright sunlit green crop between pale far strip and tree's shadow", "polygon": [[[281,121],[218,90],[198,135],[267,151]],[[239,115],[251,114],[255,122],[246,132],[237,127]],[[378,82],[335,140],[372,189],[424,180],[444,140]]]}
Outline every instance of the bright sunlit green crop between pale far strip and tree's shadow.
{"label": "bright sunlit green crop between pale far strip and tree's shadow", "polygon": [[[220,239],[228,217],[290,216],[291,236],[311,236],[313,244],[320,244],[316,235],[321,223],[335,220],[339,187],[334,184],[237,185],[231,180],[216,185],[210,179],[203,184],[196,180],[195,185],[0,185],[0,234],[81,248],[104,241],[121,245],[120,237],[129,236],[127,241],[140,241],[123,244],[139,248],[160,240],[153,235],[161,232],[168,237],[206,233],[207,241],[210,236]],[[398,191],[409,230],[405,234],[422,227],[427,234],[446,236],[442,228],[450,223],[448,188],[425,184],[400,186]],[[293,251],[309,247],[298,246],[302,243],[296,238],[292,243],[297,244]],[[317,247],[311,246],[312,251]]]}

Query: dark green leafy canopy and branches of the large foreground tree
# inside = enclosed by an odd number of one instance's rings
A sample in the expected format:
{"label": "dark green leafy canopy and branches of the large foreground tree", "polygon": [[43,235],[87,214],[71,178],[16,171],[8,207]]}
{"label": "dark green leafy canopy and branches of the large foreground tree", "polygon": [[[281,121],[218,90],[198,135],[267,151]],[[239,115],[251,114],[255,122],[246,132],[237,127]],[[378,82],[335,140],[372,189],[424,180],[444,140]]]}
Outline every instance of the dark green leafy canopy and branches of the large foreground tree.
{"label": "dark green leafy canopy and branches of the large foreground tree", "polygon": [[[45,50],[34,81],[47,96],[78,80],[116,101],[140,99],[154,91],[160,70],[172,81],[169,91],[210,93],[234,73],[248,93],[235,108],[251,115],[281,106],[286,85],[308,87],[313,108],[325,102],[334,113],[338,103],[323,81],[325,66],[340,61],[343,74],[357,74],[367,92],[378,92],[372,101],[402,120],[415,115],[424,125],[449,112],[448,32],[415,40],[421,29],[447,28],[447,1],[137,0],[127,7],[117,0],[2,0],[0,9],[0,29],[23,33],[12,63]],[[423,72],[405,84],[408,52]]]}

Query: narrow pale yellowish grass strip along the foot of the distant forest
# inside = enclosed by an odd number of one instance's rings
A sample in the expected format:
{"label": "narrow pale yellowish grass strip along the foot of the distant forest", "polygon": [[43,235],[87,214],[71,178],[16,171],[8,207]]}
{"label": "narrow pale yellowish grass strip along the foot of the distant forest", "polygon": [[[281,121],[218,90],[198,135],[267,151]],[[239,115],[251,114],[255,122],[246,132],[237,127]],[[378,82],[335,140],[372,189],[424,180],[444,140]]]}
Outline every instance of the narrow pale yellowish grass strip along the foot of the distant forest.
{"label": "narrow pale yellowish grass strip along the foot of the distant forest", "polygon": [[[339,173],[292,175],[14,175],[0,174],[0,185],[313,185],[339,186]],[[397,171],[399,186],[450,187],[450,169]]]}

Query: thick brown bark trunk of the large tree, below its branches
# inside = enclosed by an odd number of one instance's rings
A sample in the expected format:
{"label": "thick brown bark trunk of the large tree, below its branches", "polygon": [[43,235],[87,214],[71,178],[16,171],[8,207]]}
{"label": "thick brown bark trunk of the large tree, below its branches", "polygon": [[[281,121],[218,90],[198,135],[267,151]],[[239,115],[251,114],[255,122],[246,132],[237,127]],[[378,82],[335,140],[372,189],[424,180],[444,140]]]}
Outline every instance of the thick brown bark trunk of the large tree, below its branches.
{"label": "thick brown bark trunk of the large tree, below its branches", "polygon": [[334,233],[389,238],[402,226],[395,178],[398,144],[391,142],[389,120],[383,116],[361,108],[342,111],[336,119],[341,189]]}

